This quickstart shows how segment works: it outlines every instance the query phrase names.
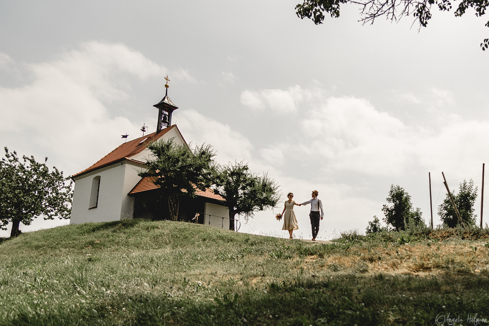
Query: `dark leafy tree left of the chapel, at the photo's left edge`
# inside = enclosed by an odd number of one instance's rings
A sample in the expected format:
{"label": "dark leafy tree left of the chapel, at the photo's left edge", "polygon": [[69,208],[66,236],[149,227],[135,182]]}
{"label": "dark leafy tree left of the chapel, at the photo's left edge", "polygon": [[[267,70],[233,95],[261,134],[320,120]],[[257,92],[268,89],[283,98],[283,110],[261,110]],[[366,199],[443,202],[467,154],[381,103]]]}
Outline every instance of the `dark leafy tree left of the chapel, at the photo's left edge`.
{"label": "dark leafy tree left of the chapel, at the photo's left edge", "polygon": [[34,218],[69,218],[73,198],[72,181],[68,184],[63,172],[56,167],[49,172],[44,163],[36,162],[34,156],[22,156],[9,152],[0,161],[0,228],[12,222],[10,237],[21,234],[19,225],[29,225]]}

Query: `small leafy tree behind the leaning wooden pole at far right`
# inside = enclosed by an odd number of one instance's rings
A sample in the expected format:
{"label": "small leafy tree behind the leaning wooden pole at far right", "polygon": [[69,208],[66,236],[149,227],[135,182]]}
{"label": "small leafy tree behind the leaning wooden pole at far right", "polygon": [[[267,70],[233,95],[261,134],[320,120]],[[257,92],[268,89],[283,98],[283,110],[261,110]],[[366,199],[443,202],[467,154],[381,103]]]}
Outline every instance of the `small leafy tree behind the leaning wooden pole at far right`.
{"label": "small leafy tree behind the leaning wooden pole at far right", "polygon": [[[474,181],[472,179],[468,182],[466,180],[462,181],[458,195],[455,195],[453,191],[451,194],[464,223],[475,225],[477,215],[474,214],[474,203],[477,198],[477,187],[474,187]],[[446,194],[443,203],[438,206],[438,215],[443,223],[449,227],[455,227],[460,223],[448,194]]]}

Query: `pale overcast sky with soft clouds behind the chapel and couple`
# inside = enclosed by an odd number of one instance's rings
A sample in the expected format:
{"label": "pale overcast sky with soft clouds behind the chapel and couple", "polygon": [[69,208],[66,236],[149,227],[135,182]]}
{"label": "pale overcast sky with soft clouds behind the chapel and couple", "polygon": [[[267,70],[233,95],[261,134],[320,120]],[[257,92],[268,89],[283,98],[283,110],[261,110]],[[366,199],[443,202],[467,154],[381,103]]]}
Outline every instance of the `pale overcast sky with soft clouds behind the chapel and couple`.
{"label": "pale overcast sky with soft clouds behind the chapel and couple", "polygon": [[[314,25],[297,3],[3,0],[1,145],[80,172],[121,134],[156,130],[168,74],[185,140],[268,172],[284,201],[317,190],[321,239],[383,217],[391,184],[428,223],[428,172],[439,224],[441,172],[451,189],[470,177],[480,189],[489,162],[489,52],[479,47],[488,18],[435,11],[418,32],[412,18],[362,26],[358,8],[342,5],[340,18]],[[274,219],[282,208],[240,232],[286,236]],[[309,208],[295,211],[296,235],[310,238]]]}

